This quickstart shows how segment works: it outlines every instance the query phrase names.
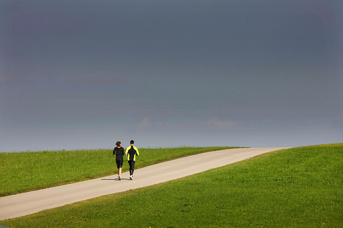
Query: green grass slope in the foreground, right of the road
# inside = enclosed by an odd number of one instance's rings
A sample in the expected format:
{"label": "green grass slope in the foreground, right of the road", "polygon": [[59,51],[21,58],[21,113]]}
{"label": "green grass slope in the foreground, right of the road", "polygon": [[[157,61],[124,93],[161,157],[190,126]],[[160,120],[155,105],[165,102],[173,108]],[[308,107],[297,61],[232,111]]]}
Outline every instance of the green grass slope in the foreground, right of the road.
{"label": "green grass slope in the foreground, right of the road", "polygon": [[343,143],[292,148],[21,218],[10,227],[343,227]]}

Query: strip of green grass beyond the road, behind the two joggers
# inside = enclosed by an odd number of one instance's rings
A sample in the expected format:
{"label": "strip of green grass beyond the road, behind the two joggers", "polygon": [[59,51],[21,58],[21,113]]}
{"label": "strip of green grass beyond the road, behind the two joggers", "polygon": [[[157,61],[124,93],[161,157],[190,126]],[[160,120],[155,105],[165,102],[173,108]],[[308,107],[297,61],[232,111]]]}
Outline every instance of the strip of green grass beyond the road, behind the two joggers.
{"label": "strip of green grass beyond the road, behind the two joggers", "polygon": [[[139,149],[135,169],[188,155],[237,147]],[[127,162],[122,172],[129,171]],[[113,149],[0,153],[0,197],[117,173]]]}

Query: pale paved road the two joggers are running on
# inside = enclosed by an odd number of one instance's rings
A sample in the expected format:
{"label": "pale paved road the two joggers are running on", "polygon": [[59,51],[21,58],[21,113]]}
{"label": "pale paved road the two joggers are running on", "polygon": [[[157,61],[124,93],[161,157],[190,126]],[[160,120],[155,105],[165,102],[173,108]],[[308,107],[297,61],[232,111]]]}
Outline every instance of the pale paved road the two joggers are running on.
{"label": "pale paved road the two joggers are running on", "polygon": [[[281,148],[238,148],[182,157],[129,172],[0,198],[0,220],[33,214],[100,195],[123,192],[200,173]],[[144,155],[143,155],[144,156]],[[137,162],[139,162],[139,157]]]}

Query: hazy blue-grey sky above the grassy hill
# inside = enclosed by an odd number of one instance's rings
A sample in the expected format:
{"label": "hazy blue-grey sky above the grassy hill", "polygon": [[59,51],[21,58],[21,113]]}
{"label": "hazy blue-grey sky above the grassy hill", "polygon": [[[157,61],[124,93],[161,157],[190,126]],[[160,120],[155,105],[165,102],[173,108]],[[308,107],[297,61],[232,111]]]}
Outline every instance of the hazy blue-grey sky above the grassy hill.
{"label": "hazy blue-grey sky above the grassy hill", "polygon": [[0,0],[0,151],[343,141],[340,0]]}

